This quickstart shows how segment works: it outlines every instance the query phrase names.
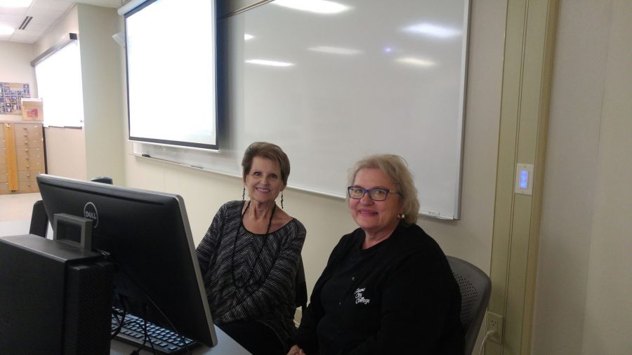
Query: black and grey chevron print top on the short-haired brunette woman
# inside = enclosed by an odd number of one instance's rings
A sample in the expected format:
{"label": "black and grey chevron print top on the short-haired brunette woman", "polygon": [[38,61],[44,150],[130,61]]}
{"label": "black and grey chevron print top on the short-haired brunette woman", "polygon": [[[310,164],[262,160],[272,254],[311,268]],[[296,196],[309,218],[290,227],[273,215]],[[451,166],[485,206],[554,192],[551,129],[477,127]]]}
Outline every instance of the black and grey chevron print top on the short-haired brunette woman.
{"label": "black and grey chevron print top on the short-haired brunette woman", "polygon": [[305,227],[294,218],[267,237],[251,233],[241,225],[243,204],[221,206],[197,246],[213,323],[261,321],[287,344],[294,335],[294,276]]}

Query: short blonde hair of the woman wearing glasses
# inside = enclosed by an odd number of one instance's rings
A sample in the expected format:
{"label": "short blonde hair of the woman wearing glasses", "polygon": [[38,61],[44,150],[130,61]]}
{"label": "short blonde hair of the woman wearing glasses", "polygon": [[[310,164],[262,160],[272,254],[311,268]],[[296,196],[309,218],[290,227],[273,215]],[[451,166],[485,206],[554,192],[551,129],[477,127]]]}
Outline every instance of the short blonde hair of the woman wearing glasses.
{"label": "short blonde hair of the woman wearing glasses", "polygon": [[[419,214],[419,199],[417,199],[417,189],[408,169],[408,163],[404,158],[395,154],[376,154],[367,156],[358,161],[349,172],[349,185],[353,186],[355,175],[362,169],[380,169],[386,177],[395,184],[395,188],[400,192],[404,202],[404,218],[402,223],[412,225],[417,222]],[[349,197],[347,196],[347,199]]]}

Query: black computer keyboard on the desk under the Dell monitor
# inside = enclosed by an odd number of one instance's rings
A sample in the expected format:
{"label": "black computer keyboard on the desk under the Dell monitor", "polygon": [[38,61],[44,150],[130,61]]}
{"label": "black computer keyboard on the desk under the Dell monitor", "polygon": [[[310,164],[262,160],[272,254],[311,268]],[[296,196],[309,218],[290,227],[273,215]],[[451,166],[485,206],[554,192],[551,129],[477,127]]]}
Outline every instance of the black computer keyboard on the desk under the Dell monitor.
{"label": "black computer keyboard on the desk under the Dell monitor", "polygon": [[[116,314],[119,314],[117,316]],[[119,320],[123,311],[120,309],[112,309],[112,333],[119,328]],[[180,337],[169,329],[156,326],[154,323],[147,322],[147,341],[145,349],[154,351],[159,354],[180,354],[187,351],[187,347],[192,349],[198,345],[195,340],[187,337]],[[145,321],[142,318],[131,314],[125,315],[123,326],[116,335],[118,340],[136,344],[138,347],[145,341]],[[150,339],[152,340],[150,344]],[[152,344],[154,345],[152,350]]]}

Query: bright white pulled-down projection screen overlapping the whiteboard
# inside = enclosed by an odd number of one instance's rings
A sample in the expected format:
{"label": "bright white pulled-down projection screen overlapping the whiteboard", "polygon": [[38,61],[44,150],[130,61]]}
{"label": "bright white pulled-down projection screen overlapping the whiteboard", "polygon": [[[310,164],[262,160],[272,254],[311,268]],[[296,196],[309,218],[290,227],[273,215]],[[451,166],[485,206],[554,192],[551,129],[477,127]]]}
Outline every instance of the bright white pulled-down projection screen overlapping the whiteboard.
{"label": "bright white pulled-down projection screen overlapping the whiteboard", "polygon": [[129,140],[218,149],[214,3],[138,1],[124,13]]}

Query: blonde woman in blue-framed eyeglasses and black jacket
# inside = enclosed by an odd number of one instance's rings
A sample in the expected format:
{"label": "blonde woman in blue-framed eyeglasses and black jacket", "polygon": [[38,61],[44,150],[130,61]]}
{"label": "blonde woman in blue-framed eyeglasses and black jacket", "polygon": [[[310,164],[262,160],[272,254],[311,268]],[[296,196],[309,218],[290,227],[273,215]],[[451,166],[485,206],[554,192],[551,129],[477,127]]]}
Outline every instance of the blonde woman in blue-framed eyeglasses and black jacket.
{"label": "blonde woman in blue-framed eyeglasses and black jacket", "polygon": [[406,162],[369,156],[349,182],[360,228],[331,252],[288,355],[462,355],[459,286],[441,248],[415,224],[419,201]]}

